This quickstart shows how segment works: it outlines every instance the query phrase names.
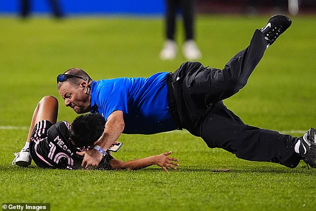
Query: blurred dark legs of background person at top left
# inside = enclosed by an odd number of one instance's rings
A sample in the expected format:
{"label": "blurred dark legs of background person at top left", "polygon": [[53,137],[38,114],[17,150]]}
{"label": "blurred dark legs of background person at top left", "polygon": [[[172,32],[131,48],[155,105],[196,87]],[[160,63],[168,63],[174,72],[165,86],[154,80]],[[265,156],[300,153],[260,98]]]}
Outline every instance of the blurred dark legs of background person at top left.
{"label": "blurred dark legs of background person at top left", "polygon": [[[62,18],[63,13],[61,11],[60,5],[58,0],[47,0],[50,3],[52,12],[54,14],[54,17],[56,18]],[[28,17],[30,15],[30,8],[31,8],[31,2],[30,0],[20,0],[20,16],[21,17]]]}

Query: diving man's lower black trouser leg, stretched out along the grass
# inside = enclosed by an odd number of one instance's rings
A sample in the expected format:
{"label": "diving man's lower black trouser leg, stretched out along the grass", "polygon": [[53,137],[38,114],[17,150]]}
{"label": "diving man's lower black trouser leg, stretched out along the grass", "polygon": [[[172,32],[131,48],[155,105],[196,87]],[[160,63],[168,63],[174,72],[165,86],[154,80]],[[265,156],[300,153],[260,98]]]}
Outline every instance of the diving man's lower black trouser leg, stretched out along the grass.
{"label": "diving man's lower black trouser leg, stretched out along the grass", "polygon": [[244,124],[221,102],[213,106],[200,125],[200,136],[210,148],[222,148],[250,161],[268,161],[295,168],[297,137]]}

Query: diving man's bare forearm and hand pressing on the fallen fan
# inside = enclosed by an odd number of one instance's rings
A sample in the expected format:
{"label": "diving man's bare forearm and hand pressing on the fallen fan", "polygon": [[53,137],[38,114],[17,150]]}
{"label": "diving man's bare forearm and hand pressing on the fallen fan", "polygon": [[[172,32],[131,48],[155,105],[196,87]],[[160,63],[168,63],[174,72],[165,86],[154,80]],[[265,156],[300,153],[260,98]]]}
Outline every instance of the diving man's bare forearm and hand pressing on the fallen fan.
{"label": "diving man's bare forearm and hand pressing on the fallen fan", "polygon": [[[124,126],[123,111],[114,111],[107,118],[104,132],[96,144],[104,150],[107,150],[120,137],[124,130]],[[102,154],[95,149],[79,153],[77,152],[77,154],[84,155],[81,165],[86,168],[88,166],[98,166],[102,160]]]}

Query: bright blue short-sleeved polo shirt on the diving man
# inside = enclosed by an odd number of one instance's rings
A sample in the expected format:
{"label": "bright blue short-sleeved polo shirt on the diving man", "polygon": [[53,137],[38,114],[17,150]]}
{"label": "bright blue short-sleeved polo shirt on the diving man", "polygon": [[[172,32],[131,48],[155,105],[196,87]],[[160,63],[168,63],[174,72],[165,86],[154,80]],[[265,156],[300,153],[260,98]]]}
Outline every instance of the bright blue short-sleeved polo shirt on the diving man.
{"label": "bright blue short-sleeved polo shirt on the diving man", "polygon": [[115,110],[124,114],[127,134],[154,134],[176,129],[169,109],[168,73],[149,78],[116,78],[93,81],[91,112],[105,120]]}

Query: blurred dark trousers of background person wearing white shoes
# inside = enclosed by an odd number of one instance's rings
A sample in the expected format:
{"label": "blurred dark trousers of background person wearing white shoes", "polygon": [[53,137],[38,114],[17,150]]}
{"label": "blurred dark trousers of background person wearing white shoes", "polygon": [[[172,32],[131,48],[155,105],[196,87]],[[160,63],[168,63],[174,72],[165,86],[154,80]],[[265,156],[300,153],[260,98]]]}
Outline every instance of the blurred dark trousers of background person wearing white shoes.
{"label": "blurred dark trousers of background person wearing white shoes", "polygon": [[175,20],[177,9],[182,11],[183,25],[185,30],[185,39],[193,39],[194,31],[194,0],[165,0],[166,2],[166,38],[174,40]]}

